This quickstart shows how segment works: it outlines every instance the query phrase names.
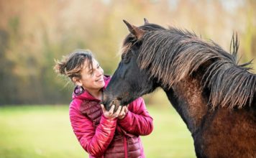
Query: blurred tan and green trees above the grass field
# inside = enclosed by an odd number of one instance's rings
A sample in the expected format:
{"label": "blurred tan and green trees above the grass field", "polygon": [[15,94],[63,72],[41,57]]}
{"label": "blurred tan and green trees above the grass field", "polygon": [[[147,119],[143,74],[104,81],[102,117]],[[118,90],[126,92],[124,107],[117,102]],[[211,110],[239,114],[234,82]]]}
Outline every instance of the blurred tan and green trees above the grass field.
{"label": "blurred tan and green trees above the grass field", "polygon": [[[229,49],[240,39],[241,62],[256,57],[255,1],[0,1],[0,105],[66,104],[73,83],[55,74],[54,60],[76,49],[91,50],[111,75],[128,33],[146,17],[163,27],[196,32]],[[255,67],[255,64],[252,65]],[[147,97],[159,103],[161,95]]]}

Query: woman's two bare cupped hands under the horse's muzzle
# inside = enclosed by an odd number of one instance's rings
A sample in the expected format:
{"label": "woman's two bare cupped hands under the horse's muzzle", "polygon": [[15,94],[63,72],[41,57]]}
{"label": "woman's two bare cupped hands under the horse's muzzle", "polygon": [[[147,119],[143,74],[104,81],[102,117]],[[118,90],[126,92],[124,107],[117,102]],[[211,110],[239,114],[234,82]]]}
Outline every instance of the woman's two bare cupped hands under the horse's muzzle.
{"label": "woman's two bare cupped hands under the horse's muzzle", "polygon": [[112,105],[110,110],[106,111],[106,108],[104,107],[104,105],[101,104],[101,108],[106,119],[115,119],[115,118],[123,119],[125,116],[125,111],[128,111],[128,109],[125,110],[125,108],[122,108],[122,107],[126,107],[126,106],[119,106],[115,113],[114,113],[114,106],[115,105]]}

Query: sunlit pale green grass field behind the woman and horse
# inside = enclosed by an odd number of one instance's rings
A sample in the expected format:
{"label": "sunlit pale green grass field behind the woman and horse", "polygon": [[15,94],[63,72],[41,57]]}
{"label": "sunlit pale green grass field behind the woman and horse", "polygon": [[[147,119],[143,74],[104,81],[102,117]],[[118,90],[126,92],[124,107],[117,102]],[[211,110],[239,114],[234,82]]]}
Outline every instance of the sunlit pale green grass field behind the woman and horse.
{"label": "sunlit pale green grass field behind the woman and horse", "polygon": [[[171,106],[148,106],[154,131],[142,136],[147,157],[196,157],[186,125]],[[88,157],[70,126],[68,106],[0,107],[0,157]]]}

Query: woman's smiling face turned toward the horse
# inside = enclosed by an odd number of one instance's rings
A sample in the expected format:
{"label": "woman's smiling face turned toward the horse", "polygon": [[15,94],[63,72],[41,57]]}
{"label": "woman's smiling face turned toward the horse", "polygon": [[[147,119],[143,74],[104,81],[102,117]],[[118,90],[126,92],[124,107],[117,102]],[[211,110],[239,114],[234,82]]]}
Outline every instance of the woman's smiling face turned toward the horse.
{"label": "woman's smiling face turned toward the horse", "polygon": [[86,90],[100,90],[104,87],[104,70],[100,67],[99,62],[92,60],[93,68],[90,68],[88,61],[85,60],[83,69],[81,70],[81,79],[83,88]]}

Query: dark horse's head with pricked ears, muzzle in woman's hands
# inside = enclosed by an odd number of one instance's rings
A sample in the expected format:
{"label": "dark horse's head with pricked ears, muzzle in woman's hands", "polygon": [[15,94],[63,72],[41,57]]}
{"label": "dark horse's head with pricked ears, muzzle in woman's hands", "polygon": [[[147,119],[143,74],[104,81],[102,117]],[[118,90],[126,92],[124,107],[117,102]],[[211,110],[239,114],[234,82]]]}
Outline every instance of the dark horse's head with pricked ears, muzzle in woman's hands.
{"label": "dark horse's head with pricked ears, muzzle in woman's hands", "polygon": [[145,34],[163,29],[163,27],[149,24],[147,19],[145,19],[145,25],[141,27],[135,27],[125,20],[124,23],[130,34],[127,35],[122,45],[122,60],[104,91],[103,103],[107,110],[112,104],[116,107],[125,106],[157,88],[154,78],[147,73],[147,70],[141,68],[138,57]]}

